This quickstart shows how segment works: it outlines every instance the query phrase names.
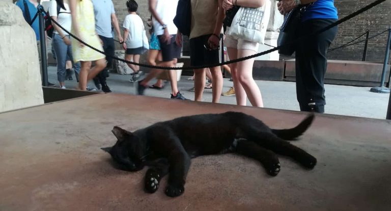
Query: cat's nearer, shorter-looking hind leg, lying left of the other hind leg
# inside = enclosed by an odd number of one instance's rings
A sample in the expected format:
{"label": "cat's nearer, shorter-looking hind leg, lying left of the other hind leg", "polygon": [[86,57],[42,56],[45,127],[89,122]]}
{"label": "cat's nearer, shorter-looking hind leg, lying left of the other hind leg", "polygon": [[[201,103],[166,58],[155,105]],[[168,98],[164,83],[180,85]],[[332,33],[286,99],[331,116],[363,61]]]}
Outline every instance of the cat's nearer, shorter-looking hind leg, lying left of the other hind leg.
{"label": "cat's nearer, shorter-looking hind leg, lying left of the other hind leg", "polygon": [[276,176],[280,172],[281,166],[276,154],[253,141],[239,140],[236,152],[261,162],[271,176]]}

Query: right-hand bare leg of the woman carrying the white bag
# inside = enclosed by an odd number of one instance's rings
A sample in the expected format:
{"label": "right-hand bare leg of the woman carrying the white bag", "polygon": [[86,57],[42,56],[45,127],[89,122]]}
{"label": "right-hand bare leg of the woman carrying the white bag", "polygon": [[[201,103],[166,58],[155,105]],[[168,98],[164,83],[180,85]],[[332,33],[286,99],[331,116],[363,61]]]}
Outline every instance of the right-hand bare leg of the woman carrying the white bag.
{"label": "right-hand bare leg of the woman carrying the white bag", "polygon": [[[248,49],[238,49],[238,57],[243,58],[250,55],[254,55],[257,52],[254,50]],[[239,73],[239,83],[242,85],[244,91],[247,94],[248,100],[250,100],[251,104],[255,107],[263,107],[262,95],[261,91],[257,83],[255,83],[253,78],[253,65],[254,58],[244,60],[238,63],[238,73]],[[235,83],[235,78],[234,78]],[[235,87],[235,91],[236,87]],[[236,94],[237,95],[237,94]]]}

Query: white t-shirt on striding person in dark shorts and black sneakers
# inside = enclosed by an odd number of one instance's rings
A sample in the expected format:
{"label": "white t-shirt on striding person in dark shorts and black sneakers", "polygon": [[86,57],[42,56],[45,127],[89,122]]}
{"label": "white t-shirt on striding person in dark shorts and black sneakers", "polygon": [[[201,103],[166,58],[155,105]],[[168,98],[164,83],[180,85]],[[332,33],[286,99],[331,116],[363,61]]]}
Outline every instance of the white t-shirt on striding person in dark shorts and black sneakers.
{"label": "white t-shirt on striding person in dark shorts and black sneakers", "polygon": [[[178,31],[176,25],[174,24],[174,18],[177,14],[177,6],[178,0],[157,0],[156,3],[155,10],[157,15],[159,15],[163,23],[167,25],[167,30],[169,30],[170,35],[176,35]],[[155,34],[164,34],[164,30],[162,29],[160,23],[156,21],[154,17],[152,17],[152,21]]]}

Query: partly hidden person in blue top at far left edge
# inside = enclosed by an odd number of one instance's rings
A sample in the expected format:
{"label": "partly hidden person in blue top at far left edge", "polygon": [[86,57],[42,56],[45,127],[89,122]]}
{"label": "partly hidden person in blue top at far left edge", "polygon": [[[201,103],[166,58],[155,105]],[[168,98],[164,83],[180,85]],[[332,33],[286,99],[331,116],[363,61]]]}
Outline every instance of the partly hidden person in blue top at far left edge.
{"label": "partly hidden person in blue top at far left edge", "polygon": [[[21,10],[22,10],[22,14],[23,14],[23,17],[24,17],[24,20],[27,22],[27,23],[31,23],[31,21],[33,20],[35,14],[37,14],[38,12],[38,1],[37,0],[18,0],[16,3],[15,3],[16,6],[18,6]],[[35,32],[35,37],[36,37],[36,40],[37,40],[37,48],[38,48],[38,59],[39,59],[39,69],[40,69],[40,73],[41,73],[41,78],[42,78],[42,65],[41,65],[41,62],[42,62],[42,58],[41,58],[41,36],[39,34],[39,18],[37,17],[33,23],[30,24],[31,28],[33,28],[34,32]],[[47,83],[48,86],[54,86],[54,84],[52,83]]]}

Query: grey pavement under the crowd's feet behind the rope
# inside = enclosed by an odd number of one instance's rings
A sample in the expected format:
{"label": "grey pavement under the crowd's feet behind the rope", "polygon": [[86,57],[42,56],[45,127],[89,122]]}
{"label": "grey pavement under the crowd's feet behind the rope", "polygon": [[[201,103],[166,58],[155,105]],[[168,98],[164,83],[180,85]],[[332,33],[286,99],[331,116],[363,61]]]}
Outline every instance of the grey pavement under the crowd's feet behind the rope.
{"label": "grey pavement under the crowd's feet behind the rope", "polygon": [[[57,68],[55,66],[48,67],[49,82],[57,82]],[[188,91],[193,87],[192,81],[187,81],[189,76],[182,76],[178,82],[178,88],[186,98],[194,99],[194,92]],[[136,94],[136,83],[130,83],[129,75],[119,75],[110,73],[107,78],[107,84],[114,93]],[[154,81],[153,81],[154,83]],[[296,101],[296,89],[294,82],[275,82],[275,81],[256,81],[261,89],[262,99],[265,108],[283,109],[299,111],[299,106]],[[73,89],[77,86],[75,76],[73,81],[66,81],[66,87]],[[94,83],[90,82],[89,86],[95,87]],[[227,91],[233,83],[224,79],[223,91]],[[353,87],[340,85],[325,85],[327,105],[325,113],[378,118],[385,119],[388,105],[388,94],[378,94],[370,92],[370,87]],[[163,90],[147,89],[145,92],[148,96],[170,98],[170,84],[166,84]],[[212,90],[205,89],[203,101],[212,101]],[[221,96],[220,103],[236,104],[235,96]],[[247,105],[250,105],[249,101]]]}

